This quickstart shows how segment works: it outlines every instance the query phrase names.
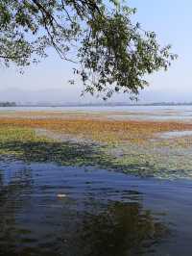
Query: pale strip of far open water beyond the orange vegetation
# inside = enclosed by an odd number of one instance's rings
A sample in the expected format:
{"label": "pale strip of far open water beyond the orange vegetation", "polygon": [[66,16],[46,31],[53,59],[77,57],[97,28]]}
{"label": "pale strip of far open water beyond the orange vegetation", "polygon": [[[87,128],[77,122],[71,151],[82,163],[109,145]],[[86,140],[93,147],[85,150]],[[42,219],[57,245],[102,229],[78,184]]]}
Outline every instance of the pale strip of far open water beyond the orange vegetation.
{"label": "pale strip of far open water beyond the orange vegetation", "polygon": [[[114,106],[114,107],[0,107],[3,112],[88,112],[110,113],[115,119],[192,120],[192,106]],[[118,115],[116,115],[116,113]]]}

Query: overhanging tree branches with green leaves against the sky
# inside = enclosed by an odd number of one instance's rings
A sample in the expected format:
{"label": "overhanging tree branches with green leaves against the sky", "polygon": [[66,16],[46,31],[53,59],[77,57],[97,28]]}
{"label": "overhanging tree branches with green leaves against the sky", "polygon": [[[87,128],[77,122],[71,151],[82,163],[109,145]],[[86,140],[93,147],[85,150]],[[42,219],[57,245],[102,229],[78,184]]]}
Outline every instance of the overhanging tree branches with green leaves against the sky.
{"label": "overhanging tree branches with green leaves against the sky", "polygon": [[23,67],[54,47],[74,63],[85,92],[136,95],[146,74],[166,70],[177,55],[132,24],[133,13],[123,0],[0,0],[0,63]]}

